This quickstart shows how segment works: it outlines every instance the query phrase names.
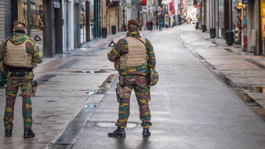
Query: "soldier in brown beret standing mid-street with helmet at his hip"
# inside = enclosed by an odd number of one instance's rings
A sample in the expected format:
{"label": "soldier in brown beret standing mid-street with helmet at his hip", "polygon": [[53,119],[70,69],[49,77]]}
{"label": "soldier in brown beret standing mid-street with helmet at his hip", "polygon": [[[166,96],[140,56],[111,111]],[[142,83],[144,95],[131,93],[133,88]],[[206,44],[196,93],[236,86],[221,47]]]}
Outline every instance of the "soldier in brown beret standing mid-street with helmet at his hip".
{"label": "soldier in brown beret standing mid-street with helmet at his hip", "polygon": [[[142,135],[149,136],[151,135],[149,127],[152,123],[150,121],[151,114],[148,106],[148,101],[150,101],[150,88],[147,86],[146,75],[148,68],[155,69],[154,50],[151,42],[140,36],[138,32],[140,24],[138,21],[129,20],[126,28],[129,31],[127,36],[120,39],[112,50],[108,52],[109,61],[119,61],[118,71],[120,74],[120,84],[125,84],[125,87],[123,87],[125,97],[120,100],[119,118],[116,123],[118,128],[114,132],[108,133],[108,136],[126,137],[124,129],[126,128],[130,114],[129,107],[132,89],[135,91],[139,105],[140,120],[142,120],[141,126],[143,127]],[[137,63],[129,64],[130,57],[134,57],[132,61],[137,61]]]}

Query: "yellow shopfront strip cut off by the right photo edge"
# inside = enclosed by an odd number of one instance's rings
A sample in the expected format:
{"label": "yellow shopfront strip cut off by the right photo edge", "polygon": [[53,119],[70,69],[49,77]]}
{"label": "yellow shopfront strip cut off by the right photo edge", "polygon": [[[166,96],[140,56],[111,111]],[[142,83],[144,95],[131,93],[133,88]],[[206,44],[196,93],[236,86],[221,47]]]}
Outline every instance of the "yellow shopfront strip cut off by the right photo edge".
{"label": "yellow shopfront strip cut off by the right photo edge", "polygon": [[260,0],[260,54],[265,55],[265,0]]}

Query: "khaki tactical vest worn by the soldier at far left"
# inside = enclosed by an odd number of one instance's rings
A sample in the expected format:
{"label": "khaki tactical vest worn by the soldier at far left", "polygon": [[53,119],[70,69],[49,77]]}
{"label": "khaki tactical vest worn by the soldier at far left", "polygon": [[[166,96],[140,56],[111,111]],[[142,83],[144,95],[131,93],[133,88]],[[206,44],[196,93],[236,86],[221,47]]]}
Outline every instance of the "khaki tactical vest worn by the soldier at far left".
{"label": "khaki tactical vest worn by the soldier at far left", "polygon": [[[27,38],[27,40],[28,39],[29,38]],[[8,40],[4,58],[5,64],[8,66],[25,68],[34,68],[37,66],[36,62],[32,60],[32,55],[26,52],[27,40],[20,45],[15,45]]]}

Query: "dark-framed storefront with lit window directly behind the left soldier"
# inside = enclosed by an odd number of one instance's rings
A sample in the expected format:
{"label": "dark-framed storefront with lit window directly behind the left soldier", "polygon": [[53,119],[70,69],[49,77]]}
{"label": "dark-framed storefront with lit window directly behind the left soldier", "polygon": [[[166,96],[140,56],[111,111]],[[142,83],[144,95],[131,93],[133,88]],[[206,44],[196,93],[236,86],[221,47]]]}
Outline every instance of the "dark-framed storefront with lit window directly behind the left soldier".
{"label": "dark-framed storefront with lit window directly behind the left soldier", "polygon": [[39,35],[43,39],[37,43],[44,57],[63,52],[63,21],[59,18],[62,18],[61,1],[12,1],[12,21],[21,20],[26,25],[28,36],[34,39]]}

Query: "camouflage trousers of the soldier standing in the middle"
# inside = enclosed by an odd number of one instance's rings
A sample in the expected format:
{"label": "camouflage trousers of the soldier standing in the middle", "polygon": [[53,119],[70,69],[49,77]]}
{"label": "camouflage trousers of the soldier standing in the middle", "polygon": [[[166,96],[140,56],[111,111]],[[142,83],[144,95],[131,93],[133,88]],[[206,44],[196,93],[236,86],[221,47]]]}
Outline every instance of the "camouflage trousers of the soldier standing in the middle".
{"label": "camouflage trousers of the soldier standing in the middle", "polygon": [[[122,79],[121,79],[122,78]],[[150,88],[146,85],[146,78],[142,75],[123,75],[120,76],[120,83],[125,83],[130,88],[129,91],[125,92],[131,95],[131,90],[134,89],[136,99],[139,105],[140,120],[142,120],[141,126],[143,128],[149,128],[152,123],[150,109],[148,101],[150,101]],[[130,97],[121,98],[119,105],[119,118],[116,126],[120,128],[126,128],[127,120],[130,115]]]}

